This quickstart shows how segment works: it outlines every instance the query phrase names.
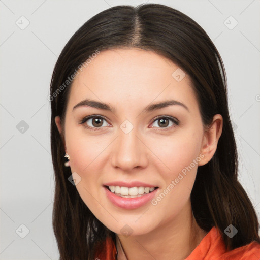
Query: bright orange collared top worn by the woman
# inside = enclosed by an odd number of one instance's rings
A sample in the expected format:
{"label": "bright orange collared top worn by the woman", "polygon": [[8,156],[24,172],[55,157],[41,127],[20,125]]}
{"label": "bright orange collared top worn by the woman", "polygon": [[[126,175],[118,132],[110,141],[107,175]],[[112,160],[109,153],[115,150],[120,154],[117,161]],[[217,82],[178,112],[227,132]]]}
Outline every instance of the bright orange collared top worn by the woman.
{"label": "bright orange collared top worn by the woman", "polygon": [[[119,240],[117,240],[119,241]],[[121,245],[117,246],[121,250]],[[111,237],[108,237],[103,244],[102,250],[96,251],[96,260],[117,260],[117,248]],[[120,252],[121,253],[121,252]],[[122,258],[125,255],[122,254]],[[191,252],[185,260],[259,260],[260,244],[251,242],[248,245],[226,251],[224,241],[218,229],[213,228],[202,239],[200,244]]]}

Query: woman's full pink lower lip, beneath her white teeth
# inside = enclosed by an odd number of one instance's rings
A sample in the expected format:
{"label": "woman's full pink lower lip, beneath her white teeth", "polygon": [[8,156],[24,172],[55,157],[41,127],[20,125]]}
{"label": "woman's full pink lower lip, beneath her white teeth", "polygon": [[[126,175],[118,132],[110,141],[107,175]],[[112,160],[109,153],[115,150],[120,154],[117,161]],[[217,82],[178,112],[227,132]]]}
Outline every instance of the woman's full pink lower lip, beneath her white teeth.
{"label": "woman's full pink lower lip, beneath her white teeth", "polygon": [[[118,184],[118,182],[116,182]],[[124,184],[125,185],[125,184]],[[107,185],[108,186],[108,185]],[[112,185],[112,186],[120,186],[120,185]],[[123,185],[122,185],[123,186]],[[125,186],[123,186],[125,187]],[[136,186],[134,186],[136,187]],[[149,186],[145,186],[145,187],[149,187]],[[154,186],[150,186],[150,187],[154,187]],[[108,190],[105,186],[103,186],[105,192],[106,192],[106,196],[107,198],[117,207],[119,208],[123,208],[123,209],[137,209],[139,207],[144,206],[145,204],[147,204],[149,201],[151,201],[157,194],[158,192],[158,188],[153,190],[152,192],[148,193],[148,194],[144,194],[141,197],[136,197],[136,198],[123,198],[123,197],[119,197],[117,195],[115,195],[113,192],[111,192],[110,190]]]}

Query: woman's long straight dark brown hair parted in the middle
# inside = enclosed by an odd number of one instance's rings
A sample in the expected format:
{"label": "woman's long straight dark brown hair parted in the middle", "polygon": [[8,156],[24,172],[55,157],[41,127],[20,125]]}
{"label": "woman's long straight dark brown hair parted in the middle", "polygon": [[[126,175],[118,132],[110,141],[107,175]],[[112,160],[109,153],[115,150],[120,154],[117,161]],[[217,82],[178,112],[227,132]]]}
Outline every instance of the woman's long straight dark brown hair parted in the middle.
{"label": "woman's long straight dark brown hair parted in the middle", "polygon": [[[88,209],[68,178],[64,167],[64,132],[60,135],[55,116],[64,115],[71,82],[80,64],[96,51],[141,48],[163,55],[177,64],[192,80],[204,125],[215,114],[223,117],[223,130],[213,158],[198,168],[191,191],[194,217],[205,231],[216,226],[227,249],[252,241],[260,243],[254,207],[238,182],[238,156],[228,110],[228,90],[221,57],[214,44],[191,18],[159,4],[138,7],[115,6],[84,23],[63,48],[50,85],[51,152],[55,173],[53,229],[61,260],[92,259],[94,245],[107,236],[115,238]],[[65,84],[64,84],[65,83]],[[63,87],[61,87],[63,86]],[[234,225],[230,238],[224,230]]]}

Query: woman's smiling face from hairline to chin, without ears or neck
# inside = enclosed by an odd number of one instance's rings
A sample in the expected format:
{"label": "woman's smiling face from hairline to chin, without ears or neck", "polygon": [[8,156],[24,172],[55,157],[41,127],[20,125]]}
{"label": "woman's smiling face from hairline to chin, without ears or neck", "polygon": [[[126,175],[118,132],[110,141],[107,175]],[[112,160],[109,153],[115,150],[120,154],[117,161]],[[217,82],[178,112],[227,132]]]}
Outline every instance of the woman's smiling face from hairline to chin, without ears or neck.
{"label": "woman's smiling face from hairline to chin, without ears or neck", "polygon": [[146,234],[190,208],[204,127],[188,75],[167,58],[102,51],[73,82],[64,131],[80,197],[113,232]]}

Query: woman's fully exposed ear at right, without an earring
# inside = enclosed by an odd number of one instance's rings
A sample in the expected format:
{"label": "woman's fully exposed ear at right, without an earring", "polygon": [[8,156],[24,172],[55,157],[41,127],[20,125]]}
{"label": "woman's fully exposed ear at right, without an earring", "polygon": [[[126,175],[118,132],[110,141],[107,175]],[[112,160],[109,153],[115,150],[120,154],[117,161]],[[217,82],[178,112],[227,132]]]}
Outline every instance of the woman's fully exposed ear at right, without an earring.
{"label": "woman's fully exposed ear at right, without an earring", "polygon": [[205,130],[201,153],[204,157],[201,159],[199,166],[205,165],[211,160],[217,150],[218,140],[222,134],[223,118],[220,114],[214,115],[212,123]]}

